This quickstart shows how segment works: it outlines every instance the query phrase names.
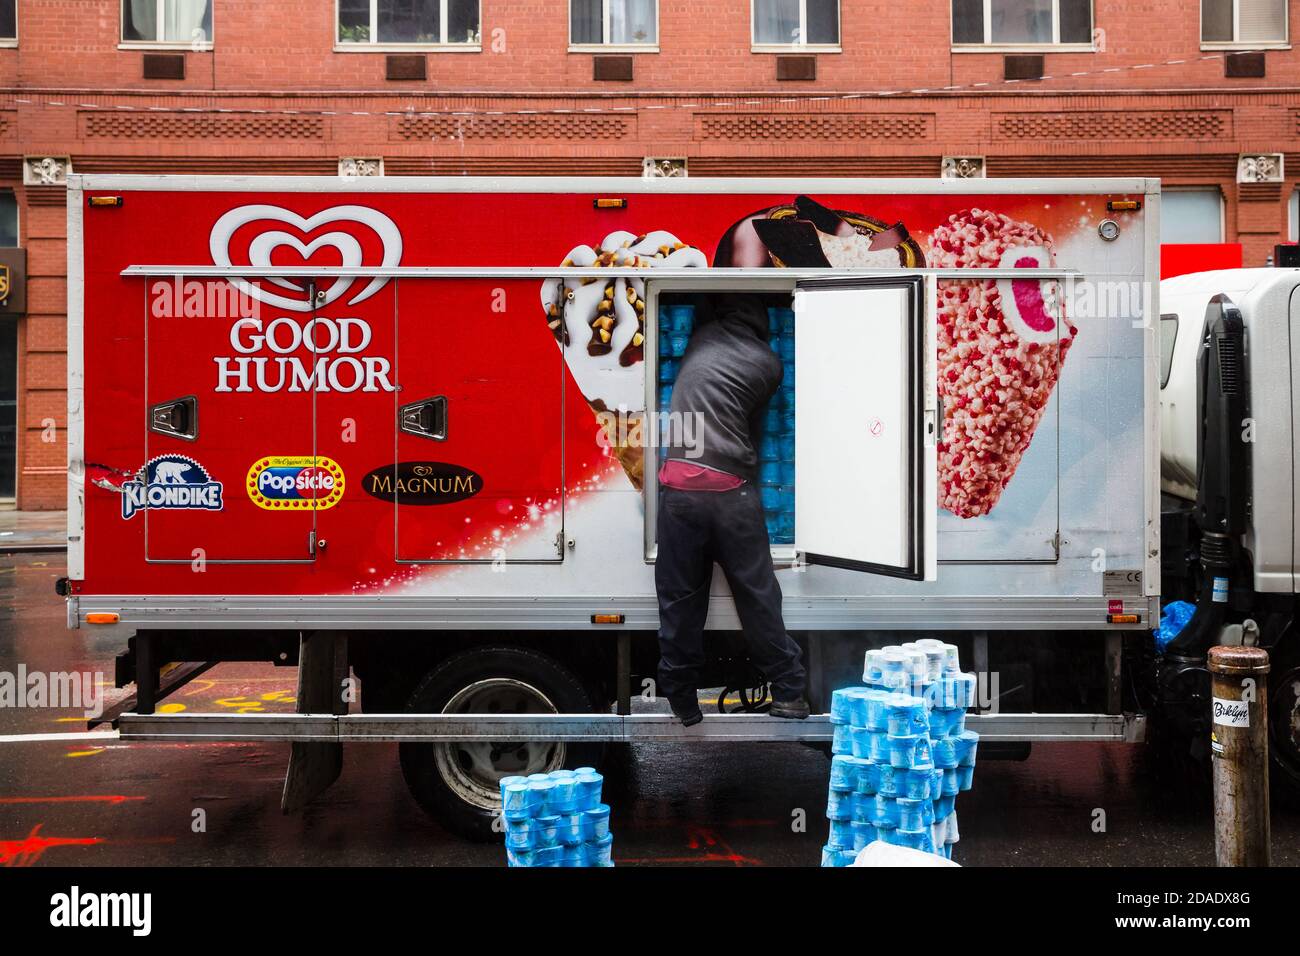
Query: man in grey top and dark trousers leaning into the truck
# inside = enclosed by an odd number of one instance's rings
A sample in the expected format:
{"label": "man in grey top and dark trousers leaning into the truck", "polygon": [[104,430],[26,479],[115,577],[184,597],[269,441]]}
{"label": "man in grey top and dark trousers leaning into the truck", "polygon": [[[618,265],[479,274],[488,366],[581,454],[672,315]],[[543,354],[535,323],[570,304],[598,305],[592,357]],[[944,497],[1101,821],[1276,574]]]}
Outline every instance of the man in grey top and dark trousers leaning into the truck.
{"label": "man in grey top and dark trousers leaning into the truck", "polygon": [[696,692],[715,562],[736,600],[749,658],[771,685],[772,715],[809,715],[758,489],[763,412],[781,382],[781,359],[767,338],[758,295],[697,297],[696,332],[672,389],[670,421],[689,419],[694,441],[670,441],[659,471],[659,692],[688,727],[705,719]]}

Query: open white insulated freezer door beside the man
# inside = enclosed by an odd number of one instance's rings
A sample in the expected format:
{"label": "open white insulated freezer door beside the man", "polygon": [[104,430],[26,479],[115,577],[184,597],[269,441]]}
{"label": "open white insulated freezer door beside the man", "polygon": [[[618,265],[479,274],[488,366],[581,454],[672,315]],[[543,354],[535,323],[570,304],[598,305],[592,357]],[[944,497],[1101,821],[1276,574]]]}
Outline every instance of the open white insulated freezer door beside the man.
{"label": "open white insulated freezer door beside the man", "polygon": [[794,311],[796,551],[935,580],[933,278],[805,281]]}

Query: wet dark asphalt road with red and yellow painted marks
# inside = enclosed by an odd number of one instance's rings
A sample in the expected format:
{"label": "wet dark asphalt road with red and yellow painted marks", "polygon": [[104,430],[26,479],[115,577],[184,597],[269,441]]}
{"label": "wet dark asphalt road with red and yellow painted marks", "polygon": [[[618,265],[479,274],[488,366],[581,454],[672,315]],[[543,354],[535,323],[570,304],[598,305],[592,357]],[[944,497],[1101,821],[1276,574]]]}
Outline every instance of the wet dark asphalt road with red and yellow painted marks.
{"label": "wet dark asphalt road with red and yellow painted marks", "polygon": [[[0,671],[101,671],[116,640],[68,631],[53,593],[60,554],[0,557]],[[164,706],[291,710],[294,671],[222,665]],[[342,779],[285,817],[287,744],[10,743],[83,730],[74,711],[0,709],[0,865],[502,866],[407,795],[396,745],[354,745]],[[828,761],[800,745],[638,745],[608,771],[619,865],[815,866],[826,839]],[[957,801],[968,866],[1213,865],[1212,819],[1157,774],[1143,747],[1039,745],[983,758]],[[1105,831],[1095,831],[1097,810]],[[801,813],[802,812],[802,813]],[[798,830],[800,818],[807,821]],[[202,821],[204,826],[199,826]],[[1273,855],[1300,864],[1300,814],[1275,806]]]}

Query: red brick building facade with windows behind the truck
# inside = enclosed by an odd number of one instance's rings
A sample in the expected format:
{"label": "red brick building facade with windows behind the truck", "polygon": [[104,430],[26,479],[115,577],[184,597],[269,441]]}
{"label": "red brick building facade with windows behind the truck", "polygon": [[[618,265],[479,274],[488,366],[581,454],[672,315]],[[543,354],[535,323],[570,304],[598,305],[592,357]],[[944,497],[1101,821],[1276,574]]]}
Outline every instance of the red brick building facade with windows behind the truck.
{"label": "red brick building facade with windows behind the truck", "polygon": [[[26,315],[0,319],[17,377],[0,467],[20,507],[62,507],[68,163],[935,177],[982,157],[989,177],[1158,176],[1187,190],[1167,241],[1240,242],[1262,264],[1300,174],[1287,5],[0,0],[0,198],[29,274]],[[1243,155],[1284,155],[1284,176],[1239,182]]]}

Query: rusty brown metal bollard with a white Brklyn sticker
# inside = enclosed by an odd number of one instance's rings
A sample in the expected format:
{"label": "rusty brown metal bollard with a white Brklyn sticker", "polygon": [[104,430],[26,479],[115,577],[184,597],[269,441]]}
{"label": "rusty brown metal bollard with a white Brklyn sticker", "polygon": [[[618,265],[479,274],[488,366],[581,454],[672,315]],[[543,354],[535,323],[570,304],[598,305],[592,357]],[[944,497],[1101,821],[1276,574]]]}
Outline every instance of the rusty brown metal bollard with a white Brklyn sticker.
{"label": "rusty brown metal bollard with a white Brklyn sticker", "polygon": [[1214,860],[1268,866],[1269,652],[1210,648],[1210,748],[1214,761]]}

